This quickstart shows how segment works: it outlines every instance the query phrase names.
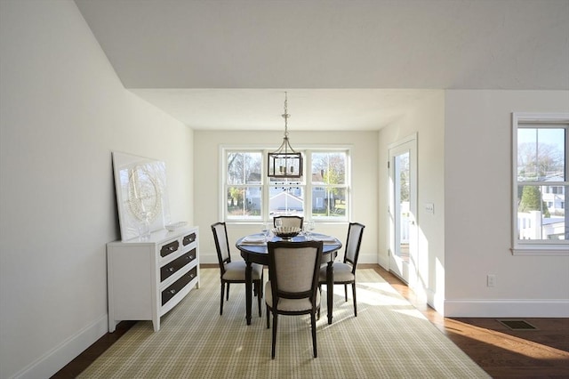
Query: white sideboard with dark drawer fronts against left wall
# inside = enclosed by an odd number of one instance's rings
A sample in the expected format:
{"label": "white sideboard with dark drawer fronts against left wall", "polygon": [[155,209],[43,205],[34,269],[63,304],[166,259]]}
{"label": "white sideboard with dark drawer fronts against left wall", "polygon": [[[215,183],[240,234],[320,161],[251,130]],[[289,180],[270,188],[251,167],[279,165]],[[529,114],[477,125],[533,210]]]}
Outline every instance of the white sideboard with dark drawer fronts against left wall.
{"label": "white sideboard with dark drawer fronts against left wall", "polygon": [[160,317],[199,287],[197,227],[156,230],[146,239],[107,244],[108,331],[122,320]]}

